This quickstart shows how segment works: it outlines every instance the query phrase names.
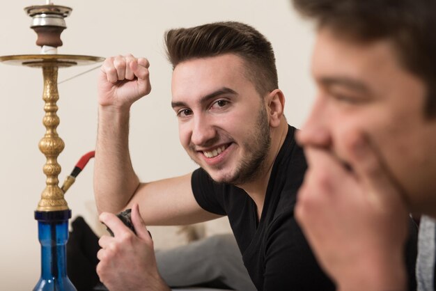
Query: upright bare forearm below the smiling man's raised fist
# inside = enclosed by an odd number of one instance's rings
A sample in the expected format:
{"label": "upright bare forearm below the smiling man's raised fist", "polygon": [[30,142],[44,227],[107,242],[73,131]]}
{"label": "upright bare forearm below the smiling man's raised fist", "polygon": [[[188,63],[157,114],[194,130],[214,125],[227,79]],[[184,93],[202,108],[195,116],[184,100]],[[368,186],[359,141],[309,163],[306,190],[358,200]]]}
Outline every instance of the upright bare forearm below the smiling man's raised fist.
{"label": "upright bare forearm below the smiling man's raised fist", "polygon": [[94,193],[98,211],[119,212],[139,186],[129,153],[128,109],[99,108]]}

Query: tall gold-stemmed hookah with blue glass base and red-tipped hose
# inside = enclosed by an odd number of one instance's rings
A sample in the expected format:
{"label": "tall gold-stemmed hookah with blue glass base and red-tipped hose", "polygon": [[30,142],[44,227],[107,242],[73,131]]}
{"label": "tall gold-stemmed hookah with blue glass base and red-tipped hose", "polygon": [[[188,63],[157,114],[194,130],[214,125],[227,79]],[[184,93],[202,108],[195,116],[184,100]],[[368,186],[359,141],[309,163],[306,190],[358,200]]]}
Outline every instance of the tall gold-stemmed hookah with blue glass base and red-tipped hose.
{"label": "tall gold-stemmed hookah with blue glass base and red-tipped hose", "polygon": [[76,288],[68,278],[66,269],[68,219],[71,218],[71,210],[64,194],[88,159],[93,157],[93,152],[82,157],[63,186],[59,187],[58,175],[61,173],[61,166],[57,162],[57,157],[65,144],[56,132],[60,122],[56,114],[58,111],[56,102],[59,100],[58,70],[74,65],[98,63],[104,58],[57,54],[57,48],[63,45],[61,33],[66,28],[65,17],[70,15],[72,8],[54,5],[47,0],[45,5],[29,6],[24,10],[32,17],[31,29],[38,35],[36,45],[41,47],[41,53],[0,56],[0,61],[6,64],[42,68],[44,81],[42,100],[45,102],[45,116],[42,123],[46,132],[38,146],[47,159],[43,166],[47,179],[46,187],[34,212],[34,217],[38,221],[38,239],[41,244],[41,276],[33,290],[72,291]]}

